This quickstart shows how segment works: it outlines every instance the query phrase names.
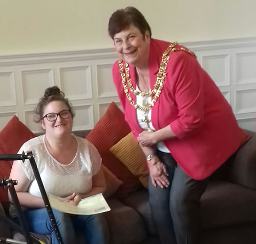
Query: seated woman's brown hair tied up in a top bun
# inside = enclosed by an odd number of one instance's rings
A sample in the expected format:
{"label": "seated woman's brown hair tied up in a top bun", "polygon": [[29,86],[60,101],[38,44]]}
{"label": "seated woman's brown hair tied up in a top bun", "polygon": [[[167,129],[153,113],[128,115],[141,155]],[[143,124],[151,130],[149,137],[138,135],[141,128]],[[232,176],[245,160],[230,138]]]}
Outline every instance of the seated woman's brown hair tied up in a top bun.
{"label": "seated woman's brown hair tied up in a top bun", "polygon": [[39,103],[37,104],[36,108],[34,109],[35,122],[39,122],[42,117],[44,116],[45,107],[53,101],[61,101],[64,104],[67,105],[68,109],[70,110],[72,118],[74,117],[74,112],[72,110],[72,107],[69,103],[69,100],[65,98],[64,92],[62,92],[57,86],[48,87],[45,90],[44,96],[42,96],[39,100]]}

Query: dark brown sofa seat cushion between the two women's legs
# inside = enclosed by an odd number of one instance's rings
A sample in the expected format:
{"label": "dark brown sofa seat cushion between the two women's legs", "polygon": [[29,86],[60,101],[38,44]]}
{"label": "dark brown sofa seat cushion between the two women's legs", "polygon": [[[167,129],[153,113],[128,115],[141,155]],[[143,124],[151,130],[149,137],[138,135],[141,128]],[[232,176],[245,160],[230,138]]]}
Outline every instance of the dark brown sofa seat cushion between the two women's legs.
{"label": "dark brown sofa seat cushion between the two women's legs", "polygon": [[143,241],[147,233],[138,212],[115,198],[106,201],[111,208],[110,212],[104,213],[109,226],[110,243],[131,244]]}

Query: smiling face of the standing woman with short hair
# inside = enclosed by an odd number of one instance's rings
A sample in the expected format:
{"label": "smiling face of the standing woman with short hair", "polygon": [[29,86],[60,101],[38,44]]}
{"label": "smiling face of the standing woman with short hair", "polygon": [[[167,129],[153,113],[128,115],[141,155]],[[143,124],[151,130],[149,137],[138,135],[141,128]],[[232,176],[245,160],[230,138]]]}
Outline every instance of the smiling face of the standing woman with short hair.
{"label": "smiling face of the standing woman with short hair", "polygon": [[120,59],[137,67],[148,65],[150,54],[150,33],[140,32],[138,28],[131,25],[129,28],[114,35],[115,50]]}

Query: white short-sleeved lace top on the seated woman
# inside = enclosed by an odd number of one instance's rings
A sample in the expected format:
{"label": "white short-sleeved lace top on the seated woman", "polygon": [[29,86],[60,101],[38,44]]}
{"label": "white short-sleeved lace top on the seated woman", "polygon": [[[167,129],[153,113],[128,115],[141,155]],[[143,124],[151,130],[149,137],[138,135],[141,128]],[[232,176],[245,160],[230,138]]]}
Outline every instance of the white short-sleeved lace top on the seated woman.
{"label": "white short-sleeved lace top on the seated woman", "polygon": [[[87,193],[92,189],[92,176],[99,171],[101,157],[88,140],[73,135],[77,140],[77,153],[70,164],[61,164],[52,157],[45,144],[45,135],[25,142],[18,154],[32,151],[42,183],[47,193],[66,197],[73,192]],[[19,161],[31,181],[28,192],[41,197],[29,160]]]}

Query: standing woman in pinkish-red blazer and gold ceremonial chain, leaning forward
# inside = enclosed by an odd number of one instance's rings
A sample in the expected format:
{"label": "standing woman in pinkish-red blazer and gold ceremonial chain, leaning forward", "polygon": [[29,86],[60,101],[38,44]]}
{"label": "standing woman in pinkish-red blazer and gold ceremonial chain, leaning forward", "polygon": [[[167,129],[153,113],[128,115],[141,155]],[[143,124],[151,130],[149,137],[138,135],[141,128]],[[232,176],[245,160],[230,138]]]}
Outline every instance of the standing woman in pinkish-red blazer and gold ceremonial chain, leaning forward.
{"label": "standing woman in pinkish-red blazer and gold ceremonial chain, leaning forward", "polygon": [[136,8],[114,12],[109,35],[120,58],[113,80],[147,158],[150,205],[161,243],[198,244],[201,195],[210,175],[238,150],[241,129],[195,54],[151,38]]}

